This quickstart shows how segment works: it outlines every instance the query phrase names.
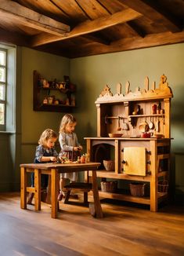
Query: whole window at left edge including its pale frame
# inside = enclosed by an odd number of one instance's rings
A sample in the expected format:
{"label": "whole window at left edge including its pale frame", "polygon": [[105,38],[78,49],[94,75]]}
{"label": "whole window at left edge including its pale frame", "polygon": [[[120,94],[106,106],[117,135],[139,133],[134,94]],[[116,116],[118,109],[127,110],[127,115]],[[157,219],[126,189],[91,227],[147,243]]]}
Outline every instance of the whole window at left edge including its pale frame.
{"label": "whole window at left edge including its pale frame", "polygon": [[16,130],[16,53],[16,46],[0,42],[0,132]]}

